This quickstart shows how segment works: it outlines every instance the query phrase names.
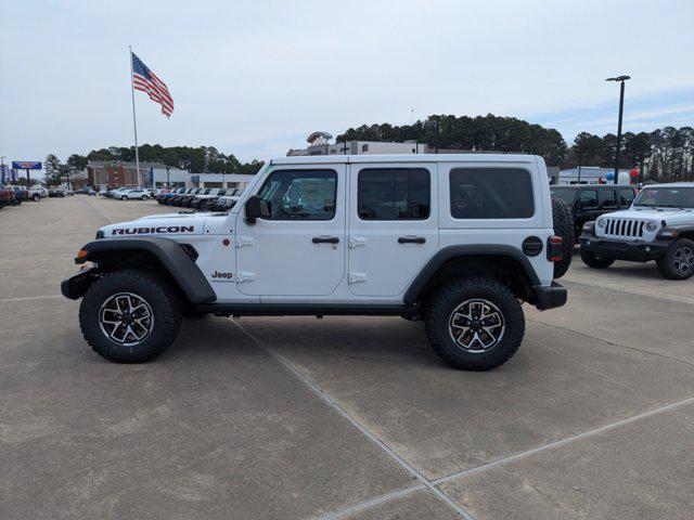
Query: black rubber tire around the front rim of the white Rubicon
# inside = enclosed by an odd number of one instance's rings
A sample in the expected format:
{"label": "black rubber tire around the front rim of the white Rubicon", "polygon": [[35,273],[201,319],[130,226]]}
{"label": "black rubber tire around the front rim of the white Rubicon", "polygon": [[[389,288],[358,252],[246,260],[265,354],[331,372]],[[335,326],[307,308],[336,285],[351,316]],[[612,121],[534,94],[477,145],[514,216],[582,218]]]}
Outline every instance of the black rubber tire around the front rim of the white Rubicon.
{"label": "black rubber tire around the front rim of the white Rubicon", "polygon": [[[131,292],[145,300],[154,316],[149,336],[136,346],[123,346],[106,337],[99,322],[102,304],[119,292]],[[82,298],[79,307],[82,336],[102,358],[116,363],[144,363],[164,352],[181,327],[181,306],[174,288],[155,273],[124,270],[104,274]]]}

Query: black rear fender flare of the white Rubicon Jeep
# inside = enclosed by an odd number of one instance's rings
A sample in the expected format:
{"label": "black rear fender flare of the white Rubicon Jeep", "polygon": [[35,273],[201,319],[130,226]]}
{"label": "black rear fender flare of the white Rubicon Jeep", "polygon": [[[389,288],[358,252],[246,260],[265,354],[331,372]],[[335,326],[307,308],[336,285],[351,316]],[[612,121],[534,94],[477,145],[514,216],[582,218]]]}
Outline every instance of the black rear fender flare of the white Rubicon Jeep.
{"label": "black rear fender flare of the white Rubicon Jeep", "polygon": [[510,257],[517,260],[525,270],[530,285],[534,289],[541,286],[540,278],[535,272],[535,268],[528,260],[528,257],[517,247],[500,245],[500,244],[468,244],[463,246],[449,246],[439,250],[434,255],[429,261],[420,270],[415,278],[410,283],[410,286],[404,291],[403,302],[406,306],[411,306],[416,302],[417,298],[422,294],[422,290],[426,286],[429,280],[436,274],[436,272],[449,260],[460,257],[475,257],[475,256],[496,256],[496,257]]}

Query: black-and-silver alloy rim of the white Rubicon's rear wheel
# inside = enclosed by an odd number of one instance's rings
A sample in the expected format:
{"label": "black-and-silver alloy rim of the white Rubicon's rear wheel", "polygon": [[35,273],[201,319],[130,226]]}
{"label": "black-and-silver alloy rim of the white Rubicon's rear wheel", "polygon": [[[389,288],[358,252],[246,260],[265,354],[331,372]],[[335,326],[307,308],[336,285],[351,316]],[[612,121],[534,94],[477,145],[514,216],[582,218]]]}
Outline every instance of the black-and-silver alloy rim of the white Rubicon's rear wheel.
{"label": "black-and-silver alloy rim of the white Rubicon's rear wheel", "polygon": [[455,346],[465,352],[480,353],[493,349],[505,332],[502,312],[489,300],[474,298],[453,309],[448,328]]}

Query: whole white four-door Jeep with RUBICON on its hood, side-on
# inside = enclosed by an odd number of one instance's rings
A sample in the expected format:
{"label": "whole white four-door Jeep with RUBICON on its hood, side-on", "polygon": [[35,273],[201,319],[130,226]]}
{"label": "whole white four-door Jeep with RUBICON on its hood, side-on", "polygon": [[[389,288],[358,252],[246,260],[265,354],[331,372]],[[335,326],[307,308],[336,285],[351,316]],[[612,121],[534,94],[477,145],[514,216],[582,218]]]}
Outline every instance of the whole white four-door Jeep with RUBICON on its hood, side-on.
{"label": "whole white four-door Jeep with RUBICON on its hood, side-on", "polygon": [[229,212],[97,238],[62,291],[83,297],[82,334],[108,360],[160,354],[182,315],[400,315],[450,365],[485,370],[518,349],[523,301],[566,302],[553,278],[574,226],[540,157],[319,156],[270,161]]}

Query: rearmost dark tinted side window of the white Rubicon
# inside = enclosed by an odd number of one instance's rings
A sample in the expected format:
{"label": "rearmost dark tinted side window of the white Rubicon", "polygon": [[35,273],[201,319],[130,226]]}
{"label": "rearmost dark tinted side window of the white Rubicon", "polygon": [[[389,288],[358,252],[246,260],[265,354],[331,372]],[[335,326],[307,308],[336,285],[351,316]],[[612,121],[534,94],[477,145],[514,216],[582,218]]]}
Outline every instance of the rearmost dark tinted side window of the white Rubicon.
{"label": "rearmost dark tinted side window of the white Rubicon", "polygon": [[535,214],[532,180],[523,168],[454,168],[450,192],[454,219],[528,219]]}

